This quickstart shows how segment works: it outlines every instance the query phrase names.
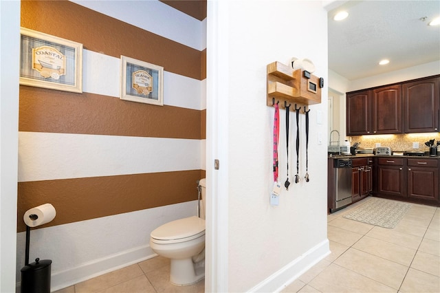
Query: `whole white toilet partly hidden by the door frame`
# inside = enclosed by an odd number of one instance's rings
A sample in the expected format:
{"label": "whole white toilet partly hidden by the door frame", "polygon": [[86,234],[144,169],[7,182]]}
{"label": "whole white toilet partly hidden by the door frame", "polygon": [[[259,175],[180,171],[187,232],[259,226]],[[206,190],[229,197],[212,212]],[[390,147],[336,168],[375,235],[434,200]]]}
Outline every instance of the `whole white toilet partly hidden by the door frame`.
{"label": "whole white toilet partly hidden by the door frame", "polygon": [[190,285],[205,277],[205,196],[206,181],[199,181],[200,217],[170,221],[150,235],[150,247],[171,262],[170,282]]}

